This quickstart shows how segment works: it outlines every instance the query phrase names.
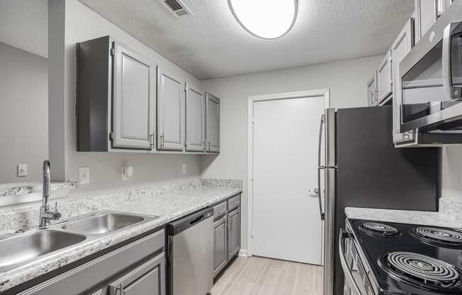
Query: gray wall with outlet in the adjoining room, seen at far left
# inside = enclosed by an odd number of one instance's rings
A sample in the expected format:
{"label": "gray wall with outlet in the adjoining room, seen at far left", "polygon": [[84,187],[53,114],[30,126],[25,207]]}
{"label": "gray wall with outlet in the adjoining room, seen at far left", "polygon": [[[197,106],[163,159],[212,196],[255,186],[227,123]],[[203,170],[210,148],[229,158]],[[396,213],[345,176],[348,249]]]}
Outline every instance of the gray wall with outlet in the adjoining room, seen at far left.
{"label": "gray wall with outlet in the adjoining room, seen at far left", "polygon": [[[47,60],[0,43],[0,183],[38,181],[48,157]],[[17,177],[17,165],[28,176]]]}

